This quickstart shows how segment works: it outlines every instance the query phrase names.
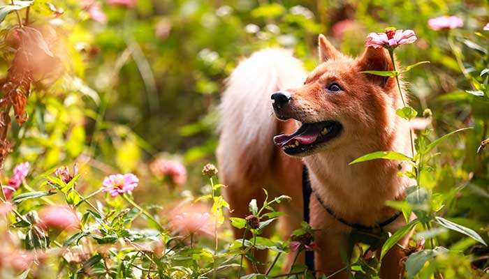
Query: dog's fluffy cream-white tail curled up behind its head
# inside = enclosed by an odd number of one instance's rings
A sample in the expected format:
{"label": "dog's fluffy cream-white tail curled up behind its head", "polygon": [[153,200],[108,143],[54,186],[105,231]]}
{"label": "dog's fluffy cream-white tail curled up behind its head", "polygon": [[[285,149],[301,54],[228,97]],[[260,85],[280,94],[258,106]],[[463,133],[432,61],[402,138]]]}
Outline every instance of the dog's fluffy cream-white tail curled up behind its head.
{"label": "dog's fluffy cream-white tail curled up behind its head", "polygon": [[217,157],[226,183],[265,175],[277,133],[270,96],[300,86],[305,77],[302,63],[281,49],[256,52],[235,68],[220,105]]}

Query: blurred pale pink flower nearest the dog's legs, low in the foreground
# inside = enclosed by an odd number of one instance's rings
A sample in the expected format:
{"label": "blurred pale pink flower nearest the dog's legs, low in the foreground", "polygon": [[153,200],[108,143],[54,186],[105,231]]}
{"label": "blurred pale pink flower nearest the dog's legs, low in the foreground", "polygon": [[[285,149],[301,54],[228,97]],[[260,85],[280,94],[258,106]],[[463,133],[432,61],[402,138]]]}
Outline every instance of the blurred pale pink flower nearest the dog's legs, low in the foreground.
{"label": "blurred pale pink flower nearest the dog's legs, low in the foreground", "polygon": [[206,206],[187,204],[178,206],[170,212],[170,227],[180,234],[208,234],[212,235],[214,217],[210,215]]}

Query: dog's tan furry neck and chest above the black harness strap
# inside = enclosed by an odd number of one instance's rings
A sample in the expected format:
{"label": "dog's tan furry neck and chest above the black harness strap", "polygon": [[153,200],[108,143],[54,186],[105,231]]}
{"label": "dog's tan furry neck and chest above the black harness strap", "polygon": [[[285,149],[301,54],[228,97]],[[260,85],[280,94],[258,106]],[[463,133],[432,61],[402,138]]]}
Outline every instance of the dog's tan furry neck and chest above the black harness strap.
{"label": "dog's tan furry neck and chest above the black harness strap", "polygon": [[349,165],[352,160],[374,151],[398,151],[411,156],[407,122],[395,121],[392,125],[396,128],[381,135],[383,138],[346,144],[304,158],[312,188],[340,216],[358,217],[368,209],[372,220],[382,218],[392,212],[386,201],[404,197],[404,189],[410,186],[411,179],[400,177],[398,172],[400,167],[406,169],[407,164],[372,160]]}

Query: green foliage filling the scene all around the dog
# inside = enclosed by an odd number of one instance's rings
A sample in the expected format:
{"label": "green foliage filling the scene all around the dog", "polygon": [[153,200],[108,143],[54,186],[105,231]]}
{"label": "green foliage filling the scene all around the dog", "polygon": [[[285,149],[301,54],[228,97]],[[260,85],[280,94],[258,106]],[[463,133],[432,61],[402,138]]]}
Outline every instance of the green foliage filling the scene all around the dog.
{"label": "green foliage filling the scene all around the dog", "polygon": [[[92,18],[97,7],[106,22]],[[462,17],[465,26],[428,27],[429,18],[444,14]],[[317,64],[318,33],[356,55],[367,33],[387,26],[416,31],[416,44],[395,50],[400,64],[409,66],[363,73],[402,74],[409,81],[404,86],[411,102],[397,110],[403,119],[416,121],[417,112],[428,107],[432,113],[423,113],[431,126],[416,132],[413,158],[378,151],[350,163],[396,160],[408,165],[400,175],[416,181],[403,201],[388,202],[407,221],[411,213],[416,219],[377,241],[386,239],[381,257],[416,229],[414,238],[423,236],[429,244],[408,247],[414,251],[405,262],[407,278],[486,276],[489,35],[482,27],[487,14],[486,3],[455,0],[138,0],[135,6],[3,1],[2,278],[311,278],[298,262],[289,273],[282,267],[291,247],[299,252],[314,247],[314,228],[302,223],[282,240],[262,235],[282,215],[277,204],[289,197],[269,199],[265,193],[263,203],[258,197],[250,201],[249,216],[228,218],[225,186],[214,183],[215,176],[207,181],[198,175],[203,163],[214,160],[219,92],[241,57],[254,50],[289,47],[310,70]],[[22,63],[21,54],[29,63]],[[418,67],[428,61],[429,67]],[[5,106],[6,100],[15,102]],[[12,147],[8,156],[3,140]],[[184,163],[188,171],[161,172],[160,159]],[[22,162],[31,164],[29,172],[7,204],[9,179]],[[71,170],[54,173],[63,165]],[[139,178],[133,193],[102,192],[105,176],[128,172]],[[207,220],[210,235],[200,234],[202,227],[177,229],[175,204],[208,206],[192,217]],[[41,220],[49,206],[73,210],[78,226],[45,227]],[[241,239],[233,240],[228,223],[242,229]],[[379,245],[355,247],[347,266],[353,278],[378,278],[379,259],[366,256]],[[261,264],[256,250],[270,250],[274,260],[266,263],[266,275],[245,275],[245,265]],[[36,260],[27,267],[18,264],[31,258]]]}

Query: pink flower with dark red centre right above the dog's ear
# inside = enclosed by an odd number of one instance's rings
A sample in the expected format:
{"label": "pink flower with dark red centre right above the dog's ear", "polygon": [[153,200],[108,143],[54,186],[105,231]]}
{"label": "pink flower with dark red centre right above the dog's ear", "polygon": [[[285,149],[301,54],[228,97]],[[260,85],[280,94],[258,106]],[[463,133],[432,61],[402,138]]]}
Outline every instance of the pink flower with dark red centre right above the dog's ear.
{"label": "pink flower with dark red centre right above the dog's ear", "polygon": [[395,28],[390,27],[384,33],[368,34],[365,45],[367,47],[393,49],[399,45],[414,43],[417,39],[416,34],[412,30],[395,30]]}

